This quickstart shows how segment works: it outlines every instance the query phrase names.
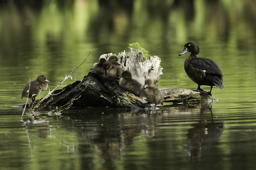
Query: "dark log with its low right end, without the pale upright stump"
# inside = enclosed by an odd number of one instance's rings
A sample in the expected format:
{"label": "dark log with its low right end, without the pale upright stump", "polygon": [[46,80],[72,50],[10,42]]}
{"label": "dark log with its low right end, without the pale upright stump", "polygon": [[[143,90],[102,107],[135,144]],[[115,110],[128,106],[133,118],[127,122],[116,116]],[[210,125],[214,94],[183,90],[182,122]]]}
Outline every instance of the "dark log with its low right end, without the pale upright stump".
{"label": "dark log with its low right end, without the pale upright stump", "polygon": [[[214,102],[217,99],[207,93],[195,92],[182,88],[160,88],[164,102]],[[76,81],[68,86],[55,90],[52,95],[40,102],[29,103],[33,112],[42,108],[57,107],[66,109],[75,107],[116,107],[144,108],[146,100],[129,93],[119,86],[118,79],[98,76],[89,72],[83,81]],[[57,109],[57,110],[58,110]]]}

